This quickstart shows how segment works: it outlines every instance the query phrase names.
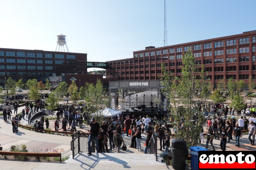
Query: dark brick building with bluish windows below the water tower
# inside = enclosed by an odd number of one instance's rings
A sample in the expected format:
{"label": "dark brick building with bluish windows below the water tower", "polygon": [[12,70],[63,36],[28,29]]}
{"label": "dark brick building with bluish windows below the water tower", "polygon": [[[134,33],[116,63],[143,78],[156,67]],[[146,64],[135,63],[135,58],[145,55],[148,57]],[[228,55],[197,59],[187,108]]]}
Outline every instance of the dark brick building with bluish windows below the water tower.
{"label": "dark brick building with bluish windows below the water tower", "polygon": [[4,77],[26,81],[43,75],[87,74],[86,65],[83,53],[0,48],[0,85]]}

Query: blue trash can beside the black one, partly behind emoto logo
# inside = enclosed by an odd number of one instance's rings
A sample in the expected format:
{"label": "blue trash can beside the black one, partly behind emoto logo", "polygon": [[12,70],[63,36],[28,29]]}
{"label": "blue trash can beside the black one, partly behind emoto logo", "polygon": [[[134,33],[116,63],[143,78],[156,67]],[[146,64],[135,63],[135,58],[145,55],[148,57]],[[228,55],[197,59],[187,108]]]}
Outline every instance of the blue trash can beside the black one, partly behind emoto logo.
{"label": "blue trash can beside the black one, partly behind emoto logo", "polygon": [[201,146],[191,146],[189,148],[189,153],[191,154],[191,170],[198,170],[198,151],[208,151],[207,149]]}

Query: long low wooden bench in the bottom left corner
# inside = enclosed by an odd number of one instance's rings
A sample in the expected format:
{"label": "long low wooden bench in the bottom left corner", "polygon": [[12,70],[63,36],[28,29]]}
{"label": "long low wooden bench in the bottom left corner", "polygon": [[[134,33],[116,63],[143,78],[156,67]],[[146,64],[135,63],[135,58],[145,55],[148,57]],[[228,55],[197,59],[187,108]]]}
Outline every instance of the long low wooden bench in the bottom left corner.
{"label": "long low wooden bench in the bottom left corner", "polygon": [[60,157],[60,162],[61,162],[61,153],[34,153],[34,152],[8,152],[8,151],[0,151],[0,155],[31,156],[31,157],[37,157],[38,160],[40,160],[40,157]]}

